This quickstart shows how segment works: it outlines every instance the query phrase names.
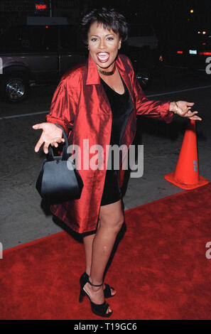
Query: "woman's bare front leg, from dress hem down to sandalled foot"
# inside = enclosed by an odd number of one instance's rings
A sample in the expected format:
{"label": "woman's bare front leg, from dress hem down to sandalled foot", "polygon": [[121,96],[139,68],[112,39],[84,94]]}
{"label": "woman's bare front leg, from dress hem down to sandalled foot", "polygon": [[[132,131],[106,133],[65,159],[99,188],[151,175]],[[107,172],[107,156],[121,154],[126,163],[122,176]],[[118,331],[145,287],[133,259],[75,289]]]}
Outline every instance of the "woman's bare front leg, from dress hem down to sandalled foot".
{"label": "woman's bare front leg, from dress hem down to sandalled foot", "polygon": [[[99,228],[92,240],[92,264],[90,271],[90,281],[92,284],[102,284],[105,267],[107,266],[114,242],[123,222],[124,215],[121,209],[121,200],[100,208]],[[85,291],[90,295],[93,303],[101,304],[104,302],[102,286],[94,287],[87,283],[85,284]]]}

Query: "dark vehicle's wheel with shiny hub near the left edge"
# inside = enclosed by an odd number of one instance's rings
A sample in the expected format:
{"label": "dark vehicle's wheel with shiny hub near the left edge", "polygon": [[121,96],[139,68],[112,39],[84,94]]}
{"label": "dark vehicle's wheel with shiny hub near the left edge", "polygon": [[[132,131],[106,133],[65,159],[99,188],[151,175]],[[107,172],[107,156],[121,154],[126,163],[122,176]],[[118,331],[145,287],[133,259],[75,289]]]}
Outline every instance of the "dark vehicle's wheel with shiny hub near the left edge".
{"label": "dark vehicle's wheel with shiny hub near the left edge", "polygon": [[28,80],[23,77],[8,77],[4,80],[3,92],[6,101],[21,102],[28,96]]}

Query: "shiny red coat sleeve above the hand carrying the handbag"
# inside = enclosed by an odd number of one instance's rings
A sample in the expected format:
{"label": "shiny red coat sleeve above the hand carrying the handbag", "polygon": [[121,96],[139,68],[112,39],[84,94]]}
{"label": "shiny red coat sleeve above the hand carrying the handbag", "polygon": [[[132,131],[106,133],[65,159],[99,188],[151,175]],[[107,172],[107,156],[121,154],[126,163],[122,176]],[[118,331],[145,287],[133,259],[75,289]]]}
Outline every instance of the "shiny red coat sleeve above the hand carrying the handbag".
{"label": "shiny red coat sleeve above the hand carrying the handbag", "polygon": [[46,115],[46,122],[60,124],[69,134],[77,112],[77,101],[74,80],[71,80],[71,76],[62,77],[53,94],[50,112]]}

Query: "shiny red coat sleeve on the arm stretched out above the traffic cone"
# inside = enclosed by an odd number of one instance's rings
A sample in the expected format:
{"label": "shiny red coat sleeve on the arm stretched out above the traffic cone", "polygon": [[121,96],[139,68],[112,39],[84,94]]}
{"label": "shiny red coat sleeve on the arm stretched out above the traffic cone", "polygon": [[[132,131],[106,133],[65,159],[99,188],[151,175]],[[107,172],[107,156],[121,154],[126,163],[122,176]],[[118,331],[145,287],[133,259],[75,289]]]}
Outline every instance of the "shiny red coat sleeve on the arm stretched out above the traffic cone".
{"label": "shiny red coat sleeve on the arm stretched out above the traffic cone", "polygon": [[132,70],[131,80],[133,82],[135,102],[136,102],[136,114],[163,120],[166,123],[172,122],[173,112],[169,111],[171,101],[148,100],[144,91],[141,88],[141,85],[139,84],[139,81],[136,78],[132,65],[131,65],[131,70]]}

